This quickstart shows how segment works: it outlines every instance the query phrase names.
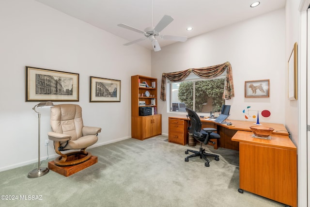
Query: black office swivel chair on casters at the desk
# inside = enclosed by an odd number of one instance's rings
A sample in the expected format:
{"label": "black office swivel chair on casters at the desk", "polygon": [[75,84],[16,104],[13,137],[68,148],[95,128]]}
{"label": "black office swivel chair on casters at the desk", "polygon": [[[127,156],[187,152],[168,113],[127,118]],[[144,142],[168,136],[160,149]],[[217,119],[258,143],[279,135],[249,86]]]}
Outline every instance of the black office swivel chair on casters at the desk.
{"label": "black office swivel chair on casters at the desk", "polygon": [[[214,159],[215,160],[219,160],[218,158],[218,155],[214,155],[214,154],[210,154],[210,153],[205,153],[205,150],[202,149],[202,143],[204,144],[207,144],[207,143],[213,143],[215,144],[214,142],[210,141],[210,139],[219,139],[220,136],[219,134],[215,133],[214,131],[216,131],[217,129],[216,128],[202,128],[202,122],[199,118],[199,116],[197,115],[197,113],[191,109],[187,109],[186,108],[186,111],[187,111],[187,119],[189,118],[188,120],[188,127],[187,127],[187,130],[189,131],[189,133],[192,133],[193,134],[193,137],[200,142],[200,148],[199,148],[199,151],[195,151],[195,150],[191,150],[191,149],[187,149],[185,151],[185,154],[187,155],[188,152],[192,152],[192,153],[195,153],[195,154],[192,154],[192,155],[189,155],[185,158],[185,161],[188,162],[188,158],[193,158],[193,157],[198,157],[200,156],[200,159],[205,159],[205,163],[204,165],[206,167],[209,167],[210,164],[209,164],[209,159],[207,159],[206,156],[208,157],[215,157]],[[190,122],[189,122],[190,121]]]}

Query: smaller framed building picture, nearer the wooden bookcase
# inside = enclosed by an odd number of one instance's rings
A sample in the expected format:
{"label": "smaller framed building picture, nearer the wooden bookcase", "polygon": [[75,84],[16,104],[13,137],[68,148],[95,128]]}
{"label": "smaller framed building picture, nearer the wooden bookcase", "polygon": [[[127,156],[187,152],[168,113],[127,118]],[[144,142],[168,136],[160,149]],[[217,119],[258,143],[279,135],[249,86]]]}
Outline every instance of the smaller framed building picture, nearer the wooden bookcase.
{"label": "smaller framed building picture, nearer the wooden bookcase", "polygon": [[120,102],[121,80],[91,76],[90,102]]}

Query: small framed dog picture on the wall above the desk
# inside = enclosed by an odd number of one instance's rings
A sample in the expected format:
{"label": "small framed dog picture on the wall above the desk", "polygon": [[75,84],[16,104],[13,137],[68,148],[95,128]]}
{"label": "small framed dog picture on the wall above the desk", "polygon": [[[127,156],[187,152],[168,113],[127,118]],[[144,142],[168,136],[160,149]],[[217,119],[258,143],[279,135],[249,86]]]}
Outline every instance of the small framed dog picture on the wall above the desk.
{"label": "small framed dog picture on the wall above the desk", "polygon": [[245,81],[245,97],[269,97],[268,80]]}

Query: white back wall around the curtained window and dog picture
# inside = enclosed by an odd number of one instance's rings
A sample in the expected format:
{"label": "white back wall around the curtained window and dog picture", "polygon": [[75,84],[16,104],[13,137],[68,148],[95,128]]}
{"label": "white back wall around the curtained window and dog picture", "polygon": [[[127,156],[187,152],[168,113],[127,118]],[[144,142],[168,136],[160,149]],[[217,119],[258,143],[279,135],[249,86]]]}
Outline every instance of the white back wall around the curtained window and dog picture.
{"label": "white back wall around the curtained window and dog picture", "polygon": [[[230,119],[245,120],[242,111],[251,106],[253,110],[271,112],[268,118],[261,116],[260,122],[284,124],[287,73],[284,8],[152,52],[152,76],[160,82],[162,73],[227,61],[232,65],[235,92],[235,97],[226,101],[232,105]],[[270,80],[269,98],[245,98],[245,81],[263,79]],[[175,114],[167,112],[167,102],[158,100],[164,134],[168,134],[168,117]]]}

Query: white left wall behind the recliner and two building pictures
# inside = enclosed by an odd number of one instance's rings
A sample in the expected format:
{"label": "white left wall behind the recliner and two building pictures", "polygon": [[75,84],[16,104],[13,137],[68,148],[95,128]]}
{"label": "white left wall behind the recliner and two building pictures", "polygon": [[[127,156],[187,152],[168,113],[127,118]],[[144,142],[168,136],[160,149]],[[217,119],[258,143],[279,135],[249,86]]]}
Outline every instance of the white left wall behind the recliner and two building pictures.
{"label": "white left wall behind the recliner and two building pictures", "polygon": [[[0,1],[0,171],[37,161],[38,118],[25,102],[25,66],[79,74],[84,124],[102,127],[97,145],[131,137],[130,77],[151,76],[151,52],[33,0]],[[121,102],[90,103],[90,76],[121,80]],[[41,111],[41,157],[50,131]],[[55,155],[50,142],[48,152]]]}

